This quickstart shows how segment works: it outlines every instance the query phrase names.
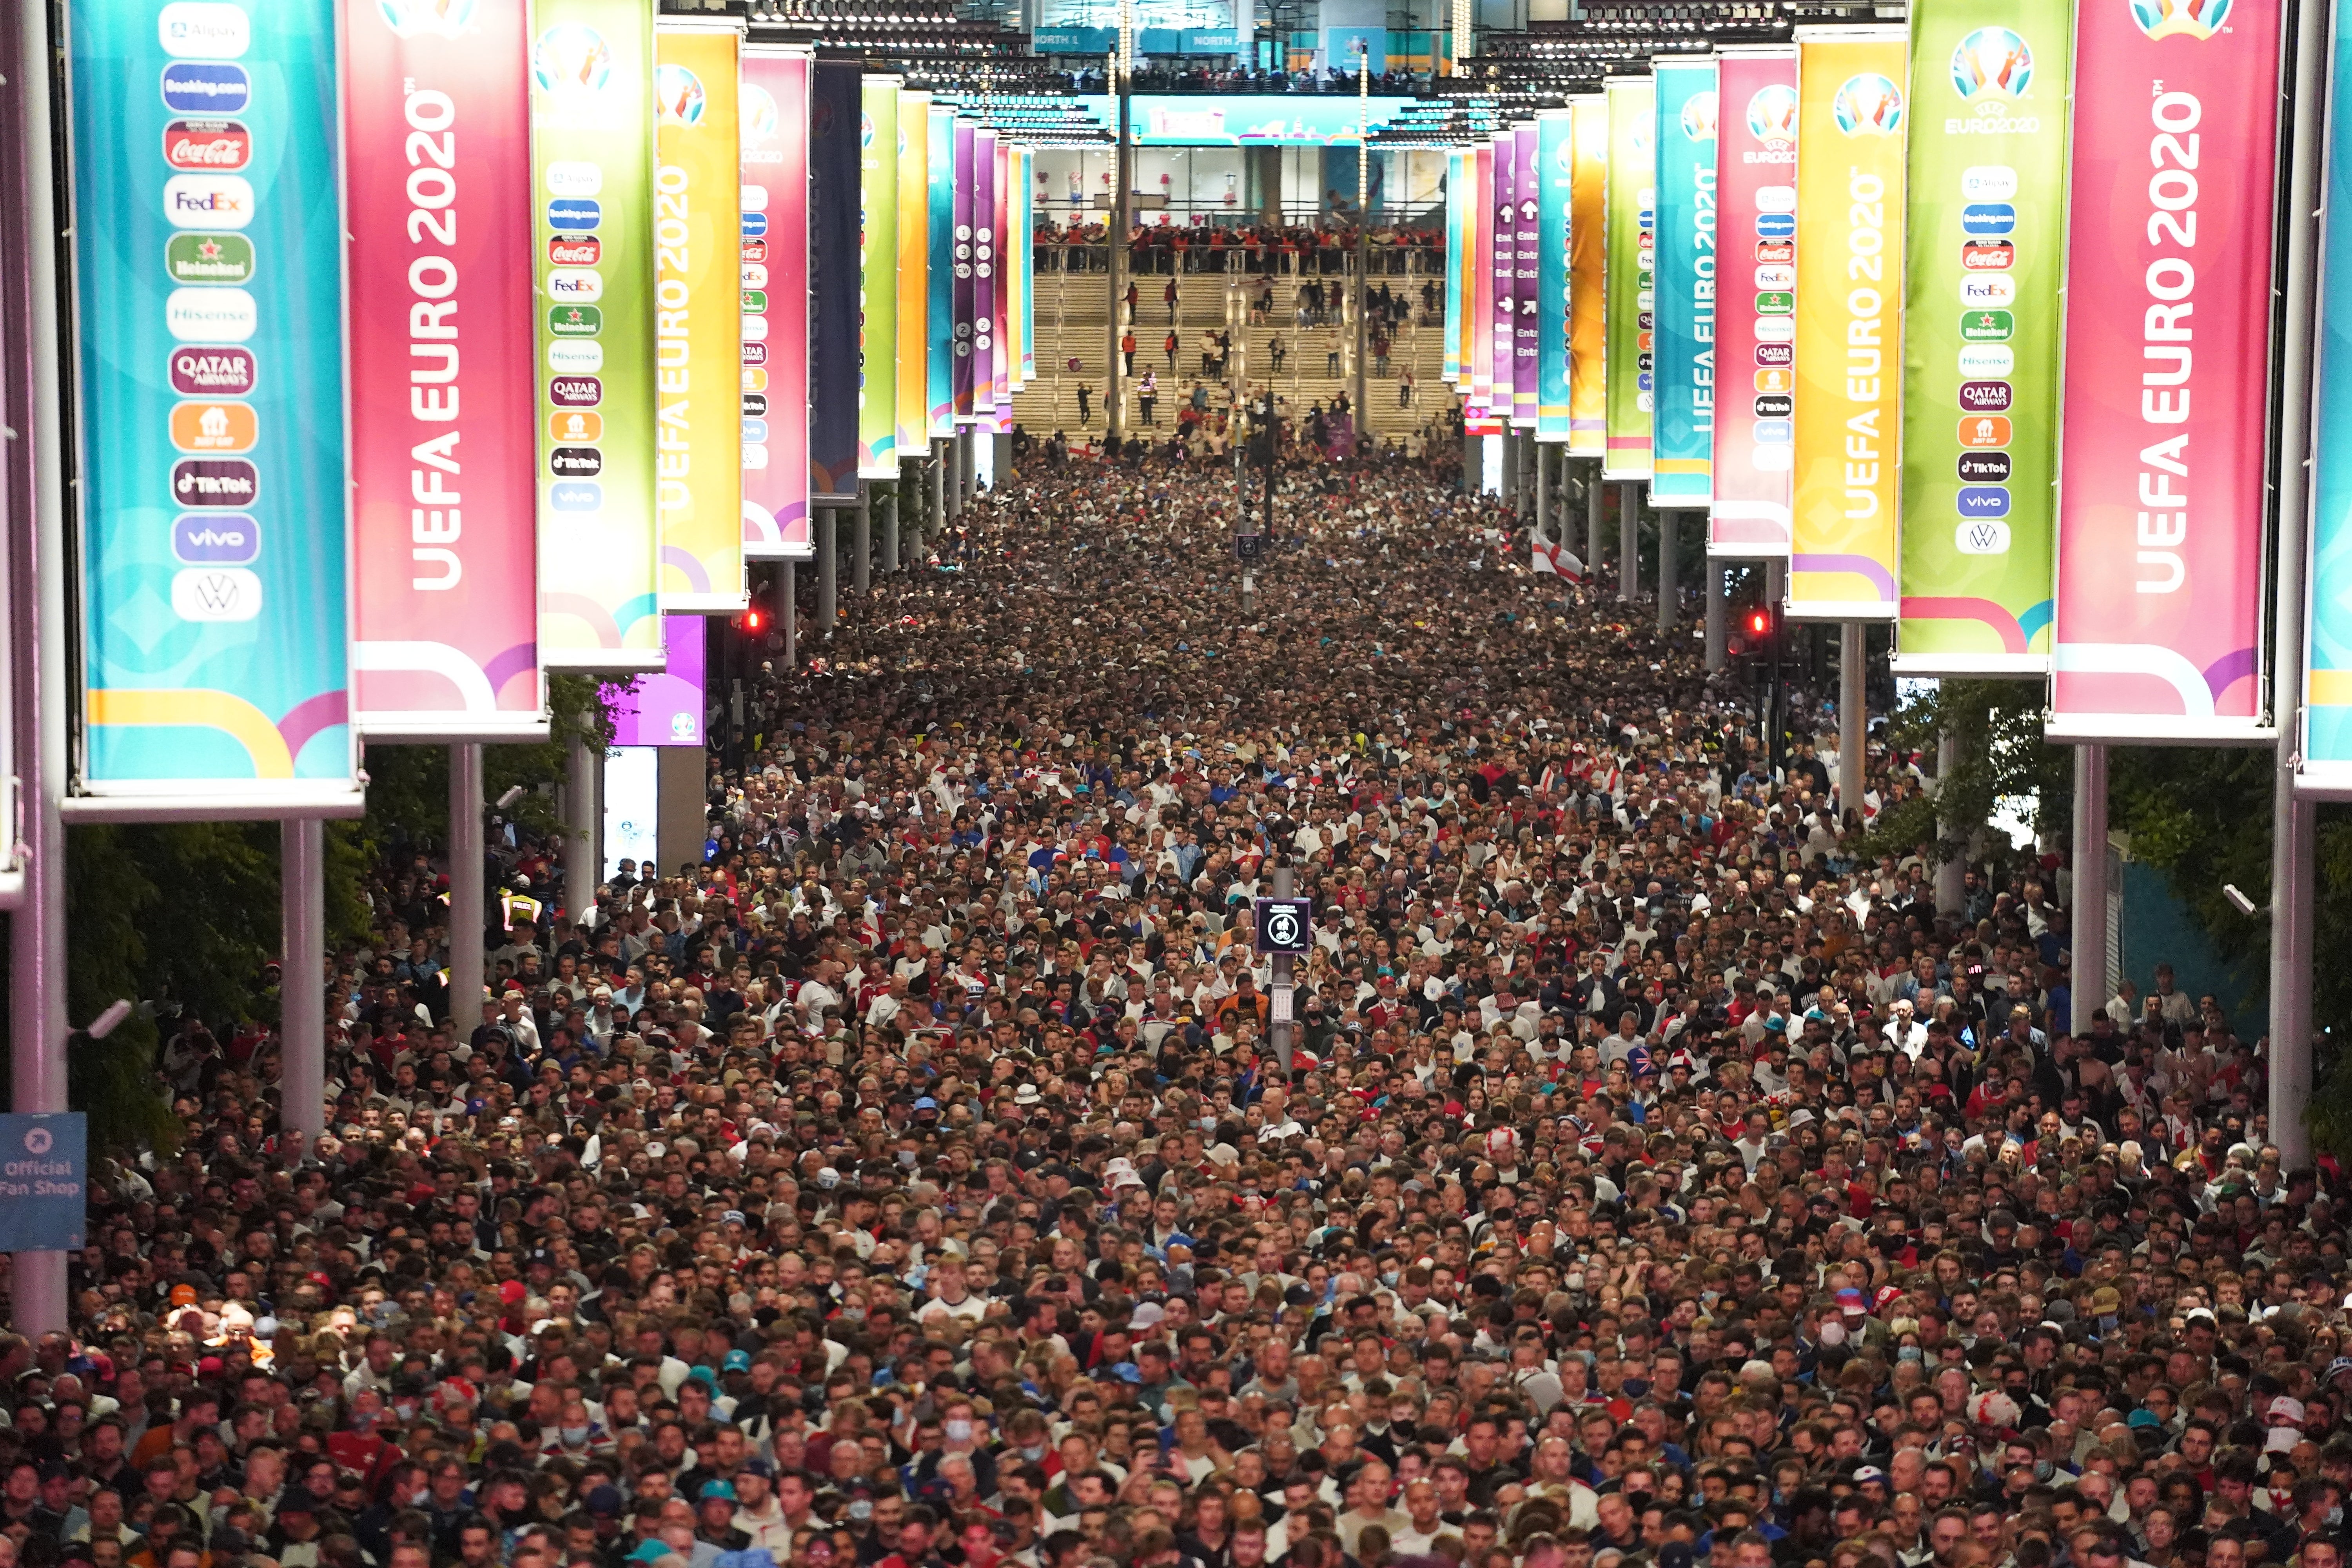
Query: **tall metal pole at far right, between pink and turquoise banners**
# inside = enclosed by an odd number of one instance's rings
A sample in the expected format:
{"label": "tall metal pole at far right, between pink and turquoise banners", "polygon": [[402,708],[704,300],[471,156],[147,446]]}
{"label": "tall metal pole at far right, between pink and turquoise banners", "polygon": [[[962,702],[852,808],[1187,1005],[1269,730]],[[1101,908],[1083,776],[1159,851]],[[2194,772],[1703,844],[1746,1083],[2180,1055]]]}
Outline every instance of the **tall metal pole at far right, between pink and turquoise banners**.
{"label": "tall metal pole at far right, between pink and turquoise banners", "polygon": [[2296,141],[2286,183],[2286,331],[2279,336],[2279,543],[2270,630],[2272,717],[2279,726],[2270,830],[2270,1143],[2288,1171],[2307,1166],[2312,1138],[2312,856],[2317,806],[2296,797],[2303,745],[2305,496],[2310,489],[2310,386],[2317,336],[2319,179],[2326,162],[2331,5],[2296,7]]}

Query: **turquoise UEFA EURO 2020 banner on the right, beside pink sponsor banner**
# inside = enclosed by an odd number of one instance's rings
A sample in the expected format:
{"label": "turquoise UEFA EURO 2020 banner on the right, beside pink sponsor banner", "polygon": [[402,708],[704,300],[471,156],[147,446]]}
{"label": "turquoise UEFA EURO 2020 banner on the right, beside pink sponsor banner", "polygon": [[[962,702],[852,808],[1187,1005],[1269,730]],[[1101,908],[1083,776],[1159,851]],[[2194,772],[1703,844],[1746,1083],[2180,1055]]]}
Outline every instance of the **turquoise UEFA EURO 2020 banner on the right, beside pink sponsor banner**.
{"label": "turquoise UEFA EURO 2020 banner on the right, beside pink sponsor banner", "polygon": [[1715,498],[1715,61],[1661,59],[1656,216],[1656,505]]}

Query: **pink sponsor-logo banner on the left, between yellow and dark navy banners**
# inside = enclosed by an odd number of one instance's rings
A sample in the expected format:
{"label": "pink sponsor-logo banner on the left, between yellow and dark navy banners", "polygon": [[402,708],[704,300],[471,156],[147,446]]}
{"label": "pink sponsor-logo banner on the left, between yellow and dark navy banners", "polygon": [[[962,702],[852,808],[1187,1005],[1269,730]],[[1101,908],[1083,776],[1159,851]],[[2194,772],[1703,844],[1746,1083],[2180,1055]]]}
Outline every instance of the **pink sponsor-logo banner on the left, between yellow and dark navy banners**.
{"label": "pink sponsor-logo banner on the left, between yellow and dark navy banners", "polygon": [[809,54],[748,45],[743,557],[809,555]]}

